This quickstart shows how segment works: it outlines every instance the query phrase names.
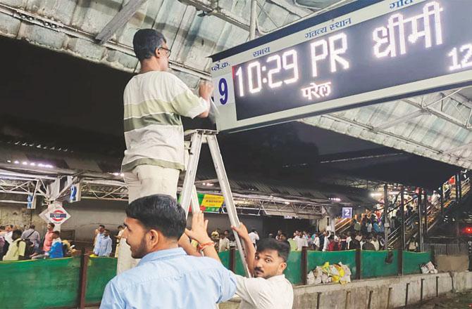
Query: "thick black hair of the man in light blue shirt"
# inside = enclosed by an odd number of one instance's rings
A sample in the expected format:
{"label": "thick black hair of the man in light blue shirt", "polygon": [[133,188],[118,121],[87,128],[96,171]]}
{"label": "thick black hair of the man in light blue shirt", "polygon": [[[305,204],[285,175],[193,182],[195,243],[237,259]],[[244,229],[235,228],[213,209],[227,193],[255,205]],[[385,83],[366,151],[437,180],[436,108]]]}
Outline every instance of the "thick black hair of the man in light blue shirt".
{"label": "thick black hair of the man in light blue shirt", "polygon": [[131,202],[126,216],[138,220],[148,230],[159,230],[164,236],[179,239],[185,230],[185,211],[170,195],[150,195]]}

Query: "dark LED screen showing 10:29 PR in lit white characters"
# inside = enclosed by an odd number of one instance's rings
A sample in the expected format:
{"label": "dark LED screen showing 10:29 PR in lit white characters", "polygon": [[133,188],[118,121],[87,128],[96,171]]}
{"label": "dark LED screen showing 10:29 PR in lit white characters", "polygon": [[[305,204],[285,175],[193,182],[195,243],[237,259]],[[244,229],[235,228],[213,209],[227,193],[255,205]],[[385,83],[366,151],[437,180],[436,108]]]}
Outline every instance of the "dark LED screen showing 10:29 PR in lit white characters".
{"label": "dark LED screen showing 10:29 PR in lit white characters", "polygon": [[237,120],[471,70],[466,3],[423,1],[352,26],[347,18],[339,31],[233,65]]}

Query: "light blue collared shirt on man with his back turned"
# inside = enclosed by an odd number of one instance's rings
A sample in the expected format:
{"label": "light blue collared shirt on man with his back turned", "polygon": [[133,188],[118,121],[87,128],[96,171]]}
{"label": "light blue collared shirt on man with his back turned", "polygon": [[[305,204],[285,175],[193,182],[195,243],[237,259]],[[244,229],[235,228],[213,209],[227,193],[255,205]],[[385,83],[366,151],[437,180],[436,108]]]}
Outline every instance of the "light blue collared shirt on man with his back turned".
{"label": "light blue collared shirt on man with his back turned", "polygon": [[235,291],[235,276],[220,262],[167,249],[147,254],[108,282],[100,308],[214,309]]}

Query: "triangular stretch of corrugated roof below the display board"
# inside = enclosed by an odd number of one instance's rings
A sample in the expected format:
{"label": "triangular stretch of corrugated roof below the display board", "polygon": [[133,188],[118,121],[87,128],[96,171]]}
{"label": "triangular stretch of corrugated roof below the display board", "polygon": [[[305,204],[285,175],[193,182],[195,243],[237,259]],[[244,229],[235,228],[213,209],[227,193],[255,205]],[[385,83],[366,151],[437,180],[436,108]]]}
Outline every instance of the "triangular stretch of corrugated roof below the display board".
{"label": "triangular stretch of corrugated roof below the display board", "polygon": [[472,88],[302,119],[304,124],[472,167]]}

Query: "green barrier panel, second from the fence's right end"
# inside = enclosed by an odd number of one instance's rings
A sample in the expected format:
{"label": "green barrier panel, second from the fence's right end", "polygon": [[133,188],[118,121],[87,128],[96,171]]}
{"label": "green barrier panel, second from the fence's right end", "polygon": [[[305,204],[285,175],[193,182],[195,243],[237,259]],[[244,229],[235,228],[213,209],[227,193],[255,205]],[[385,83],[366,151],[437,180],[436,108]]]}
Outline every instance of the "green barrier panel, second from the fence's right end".
{"label": "green barrier panel, second from the fence's right end", "polygon": [[398,275],[398,251],[392,251],[392,263],[385,263],[388,251],[361,251],[362,277],[386,277]]}

